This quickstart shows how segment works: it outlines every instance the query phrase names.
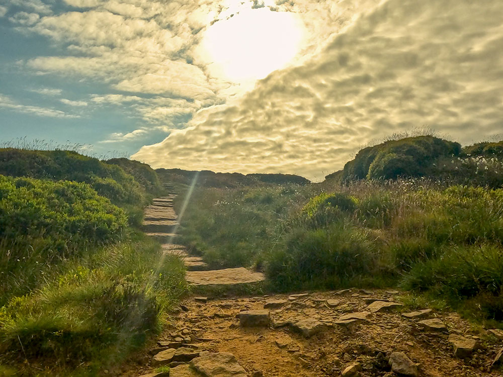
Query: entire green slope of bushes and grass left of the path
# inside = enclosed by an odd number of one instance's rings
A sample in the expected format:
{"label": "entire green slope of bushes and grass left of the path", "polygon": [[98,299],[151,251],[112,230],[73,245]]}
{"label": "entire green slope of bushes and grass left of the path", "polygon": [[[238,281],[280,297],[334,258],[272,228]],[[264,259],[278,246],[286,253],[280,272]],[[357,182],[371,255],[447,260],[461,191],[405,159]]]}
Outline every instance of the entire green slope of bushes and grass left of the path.
{"label": "entire green slope of bushes and grass left of the path", "polygon": [[0,175],[0,375],[113,370],[187,290],[183,264],[128,226],[159,189],[155,173],[67,151],[0,156],[4,173],[45,178]]}

